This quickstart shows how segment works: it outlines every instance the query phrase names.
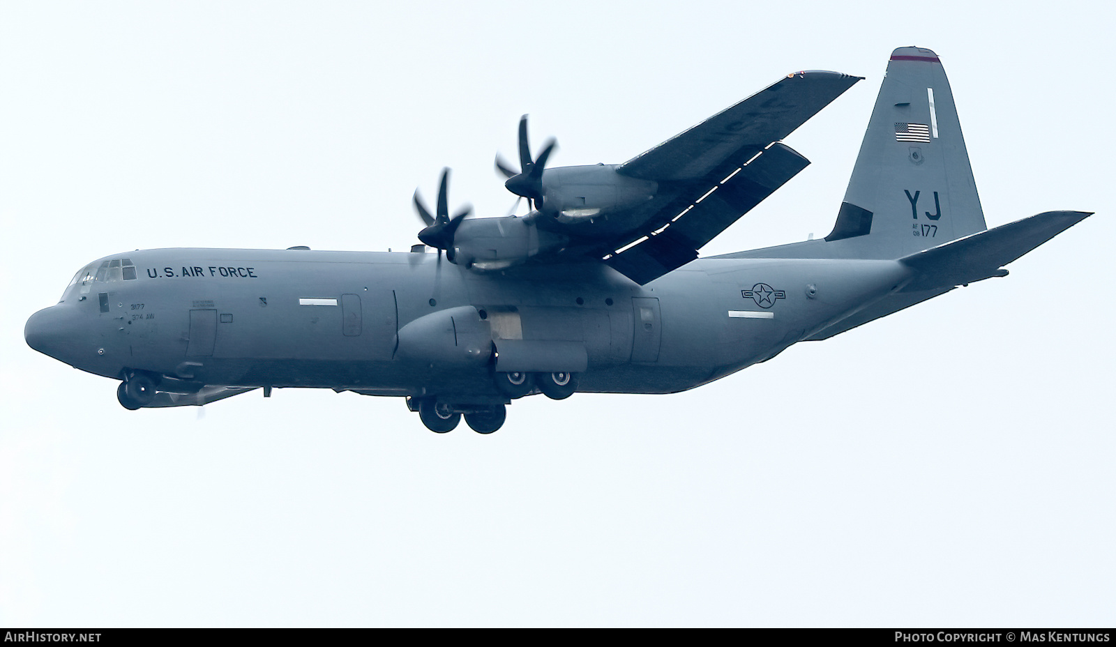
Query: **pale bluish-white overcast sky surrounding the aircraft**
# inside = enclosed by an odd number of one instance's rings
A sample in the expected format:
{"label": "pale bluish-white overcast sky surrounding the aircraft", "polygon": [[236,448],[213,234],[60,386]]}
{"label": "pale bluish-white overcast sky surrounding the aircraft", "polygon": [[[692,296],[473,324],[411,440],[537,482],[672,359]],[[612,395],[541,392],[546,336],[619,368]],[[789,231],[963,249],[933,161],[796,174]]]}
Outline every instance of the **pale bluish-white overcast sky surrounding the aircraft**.
{"label": "pale bluish-white overcast sky surrounding the aircraft", "polygon": [[[840,4],[840,6],[838,6]],[[1112,4],[0,2],[0,625],[1112,626]],[[402,250],[502,215],[520,114],[617,163],[799,69],[867,77],[704,254],[824,235],[887,57],[934,49],[1010,267],[672,396],[492,436],[283,389],[127,412],[23,322],[162,247]]]}

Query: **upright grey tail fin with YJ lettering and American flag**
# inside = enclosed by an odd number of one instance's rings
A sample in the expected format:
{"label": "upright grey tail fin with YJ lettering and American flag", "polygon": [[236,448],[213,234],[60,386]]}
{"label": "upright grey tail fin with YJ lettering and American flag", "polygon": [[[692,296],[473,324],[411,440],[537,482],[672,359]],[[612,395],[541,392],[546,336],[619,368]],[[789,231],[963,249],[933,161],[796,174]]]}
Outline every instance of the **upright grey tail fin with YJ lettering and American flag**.
{"label": "upright grey tail fin with YJ lettering and American flag", "polygon": [[985,229],[942,64],[929,49],[901,47],[826,241],[897,259]]}

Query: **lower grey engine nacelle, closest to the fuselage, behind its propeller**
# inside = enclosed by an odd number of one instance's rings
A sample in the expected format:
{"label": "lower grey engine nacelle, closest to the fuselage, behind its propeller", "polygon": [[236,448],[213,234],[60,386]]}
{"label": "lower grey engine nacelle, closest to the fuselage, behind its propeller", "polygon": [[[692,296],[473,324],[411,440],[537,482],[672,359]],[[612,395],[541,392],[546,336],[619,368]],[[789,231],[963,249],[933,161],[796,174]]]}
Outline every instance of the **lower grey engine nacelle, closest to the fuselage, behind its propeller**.
{"label": "lower grey engine nacelle, closest to the fuselage, behind its propeller", "polygon": [[465,268],[500,270],[566,242],[564,235],[539,231],[533,216],[478,218],[458,228],[450,260]]}

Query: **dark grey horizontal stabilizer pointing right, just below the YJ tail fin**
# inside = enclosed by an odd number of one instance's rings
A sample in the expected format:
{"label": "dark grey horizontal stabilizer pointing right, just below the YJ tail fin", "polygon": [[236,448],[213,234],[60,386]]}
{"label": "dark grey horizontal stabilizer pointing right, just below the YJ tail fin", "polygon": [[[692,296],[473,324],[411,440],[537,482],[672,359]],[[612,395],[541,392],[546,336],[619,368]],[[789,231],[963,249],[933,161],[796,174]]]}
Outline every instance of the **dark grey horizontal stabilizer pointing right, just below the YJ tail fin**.
{"label": "dark grey horizontal stabilizer pointing right, just below the YJ tail fin", "polygon": [[1003,276],[1000,268],[1085,220],[1090,212],[1048,211],[913,253],[899,262],[917,272],[904,292],[972,283]]}

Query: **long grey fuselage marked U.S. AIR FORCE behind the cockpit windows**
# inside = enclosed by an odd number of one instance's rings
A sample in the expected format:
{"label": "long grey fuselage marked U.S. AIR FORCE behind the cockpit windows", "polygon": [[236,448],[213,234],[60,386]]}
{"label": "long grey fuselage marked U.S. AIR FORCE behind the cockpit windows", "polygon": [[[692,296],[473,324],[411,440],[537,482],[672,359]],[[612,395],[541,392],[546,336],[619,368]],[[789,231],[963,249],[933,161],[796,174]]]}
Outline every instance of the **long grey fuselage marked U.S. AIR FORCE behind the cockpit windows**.
{"label": "long grey fuselage marked U.S. AIR FORCE behind the cockpit windows", "polygon": [[[123,274],[97,272],[117,260]],[[886,260],[701,259],[641,287],[603,263],[478,272],[436,253],[162,249],[95,261],[26,335],[113,378],[465,400],[497,395],[489,375],[518,342],[531,369],[577,370],[561,357],[580,354],[579,392],[657,394],[769,359],[908,276]],[[453,355],[463,307],[492,339],[475,358]]]}

